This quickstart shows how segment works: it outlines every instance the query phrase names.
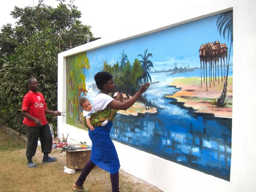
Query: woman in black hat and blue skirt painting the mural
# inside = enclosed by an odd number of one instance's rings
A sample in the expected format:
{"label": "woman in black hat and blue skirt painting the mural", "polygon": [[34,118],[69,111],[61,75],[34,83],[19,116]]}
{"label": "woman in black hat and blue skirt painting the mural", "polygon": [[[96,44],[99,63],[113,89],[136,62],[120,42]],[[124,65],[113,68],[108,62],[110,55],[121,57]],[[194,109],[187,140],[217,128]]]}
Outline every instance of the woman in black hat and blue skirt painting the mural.
{"label": "woman in black hat and blue skirt painting the mural", "polygon": [[[89,130],[89,137],[92,140],[91,159],[84,166],[78,180],[74,183],[73,190],[89,191],[89,189],[83,187],[83,183],[93,167],[97,165],[110,173],[112,191],[119,191],[120,164],[114,143],[109,135],[112,121],[117,110],[130,108],[140,98],[141,94],[148,89],[150,83],[143,84],[132,98],[122,103],[109,96],[109,93],[115,90],[115,83],[111,74],[101,71],[94,76],[94,80],[100,92],[94,101],[95,113],[91,115],[91,124],[95,128],[93,131]],[[107,125],[100,126],[106,119],[108,119]]]}

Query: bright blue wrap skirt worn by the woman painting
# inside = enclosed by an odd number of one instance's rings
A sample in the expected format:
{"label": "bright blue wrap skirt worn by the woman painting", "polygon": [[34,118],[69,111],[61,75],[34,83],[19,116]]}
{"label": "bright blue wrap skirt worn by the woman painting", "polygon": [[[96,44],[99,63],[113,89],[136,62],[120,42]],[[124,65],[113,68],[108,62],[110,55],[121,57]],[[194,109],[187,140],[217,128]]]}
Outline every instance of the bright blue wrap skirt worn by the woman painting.
{"label": "bright blue wrap skirt worn by the woman painting", "polygon": [[119,171],[120,163],[109,135],[112,125],[112,122],[108,122],[105,126],[94,127],[93,131],[89,130],[89,137],[92,140],[91,161],[101,169],[115,174]]}

